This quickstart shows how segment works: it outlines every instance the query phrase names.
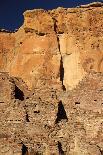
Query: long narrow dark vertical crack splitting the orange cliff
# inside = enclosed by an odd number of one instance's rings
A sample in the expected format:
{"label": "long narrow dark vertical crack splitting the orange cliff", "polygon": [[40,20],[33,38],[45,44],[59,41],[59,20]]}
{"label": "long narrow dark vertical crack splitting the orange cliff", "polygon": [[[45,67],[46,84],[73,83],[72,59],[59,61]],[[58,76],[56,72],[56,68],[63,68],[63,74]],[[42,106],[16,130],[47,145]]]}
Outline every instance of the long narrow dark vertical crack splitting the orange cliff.
{"label": "long narrow dark vertical crack splitting the orange cliff", "polygon": [[60,60],[60,81],[62,82],[62,88],[63,90],[65,91],[66,88],[63,84],[63,80],[64,80],[64,67],[63,67],[63,58],[62,58],[62,54],[61,54],[61,50],[60,50],[60,41],[59,41],[59,37],[58,37],[58,34],[57,34],[57,24],[56,24],[56,19],[53,18],[53,21],[54,21],[54,31],[56,33],[56,36],[57,36],[57,43],[58,43],[58,49],[59,49],[59,52],[60,52],[60,55],[61,55],[61,60]]}

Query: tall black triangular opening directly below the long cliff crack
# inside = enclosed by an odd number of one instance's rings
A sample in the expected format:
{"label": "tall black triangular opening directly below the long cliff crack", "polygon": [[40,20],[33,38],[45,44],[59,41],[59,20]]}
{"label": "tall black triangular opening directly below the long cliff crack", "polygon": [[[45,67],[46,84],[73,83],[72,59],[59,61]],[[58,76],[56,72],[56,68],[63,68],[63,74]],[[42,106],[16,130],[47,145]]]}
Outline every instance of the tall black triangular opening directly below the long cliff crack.
{"label": "tall black triangular opening directly below the long cliff crack", "polygon": [[62,101],[60,101],[58,104],[58,113],[57,113],[56,123],[58,123],[62,119],[68,120]]}

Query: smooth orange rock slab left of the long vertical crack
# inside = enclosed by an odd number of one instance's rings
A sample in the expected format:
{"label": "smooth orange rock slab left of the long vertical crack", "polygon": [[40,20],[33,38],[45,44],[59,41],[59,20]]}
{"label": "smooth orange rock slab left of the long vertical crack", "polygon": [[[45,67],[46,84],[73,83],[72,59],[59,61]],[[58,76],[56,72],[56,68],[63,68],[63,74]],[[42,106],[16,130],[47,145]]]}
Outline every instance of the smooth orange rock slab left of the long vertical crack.
{"label": "smooth orange rock slab left of the long vertical crack", "polygon": [[18,50],[8,68],[11,76],[22,78],[29,88],[59,81],[60,54],[55,34],[27,36]]}

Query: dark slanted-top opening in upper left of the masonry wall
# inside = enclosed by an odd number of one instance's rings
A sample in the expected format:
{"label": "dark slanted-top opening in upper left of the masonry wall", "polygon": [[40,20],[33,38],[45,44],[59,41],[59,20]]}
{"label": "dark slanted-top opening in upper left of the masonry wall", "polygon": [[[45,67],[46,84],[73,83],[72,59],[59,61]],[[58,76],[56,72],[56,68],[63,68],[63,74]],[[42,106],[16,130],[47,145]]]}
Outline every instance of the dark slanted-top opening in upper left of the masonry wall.
{"label": "dark slanted-top opening in upper left of the masonry wall", "polygon": [[24,100],[24,93],[15,85],[15,99]]}

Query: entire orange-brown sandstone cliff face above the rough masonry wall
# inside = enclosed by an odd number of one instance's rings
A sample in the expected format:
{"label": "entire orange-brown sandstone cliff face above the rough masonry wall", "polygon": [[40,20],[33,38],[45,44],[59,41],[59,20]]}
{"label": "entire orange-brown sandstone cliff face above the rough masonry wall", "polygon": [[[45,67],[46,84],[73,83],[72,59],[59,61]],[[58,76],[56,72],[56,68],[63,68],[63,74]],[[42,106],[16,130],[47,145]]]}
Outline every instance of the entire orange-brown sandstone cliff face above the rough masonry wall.
{"label": "entire orange-brown sandstone cliff face above the rough masonry wall", "polygon": [[91,70],[103,72],[103,9],[98,4],[26,11],[17,32],[0,33],[1,69],[22,78],[30,89],[46,78],[59,83],[61,58],[66,89]]}

